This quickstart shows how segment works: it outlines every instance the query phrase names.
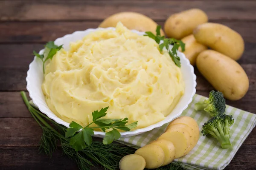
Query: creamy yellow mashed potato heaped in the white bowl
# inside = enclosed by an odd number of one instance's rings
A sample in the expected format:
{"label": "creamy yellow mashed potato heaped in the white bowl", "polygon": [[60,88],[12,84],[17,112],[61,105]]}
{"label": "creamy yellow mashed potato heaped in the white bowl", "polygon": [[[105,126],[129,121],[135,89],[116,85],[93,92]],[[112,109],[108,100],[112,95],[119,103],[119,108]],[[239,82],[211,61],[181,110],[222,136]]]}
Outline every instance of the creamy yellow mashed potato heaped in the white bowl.
{"label": "creamy yellow mashed potato heaped in the white bowl", "polygon": [[47,105],[66,122],[83,126],[92,112],[109,106],[105,118],[139,121],[137,128],[167,116],[184,92],[180,68],[151,38],[121,23],[70,43],[46,65],[42,89]]}

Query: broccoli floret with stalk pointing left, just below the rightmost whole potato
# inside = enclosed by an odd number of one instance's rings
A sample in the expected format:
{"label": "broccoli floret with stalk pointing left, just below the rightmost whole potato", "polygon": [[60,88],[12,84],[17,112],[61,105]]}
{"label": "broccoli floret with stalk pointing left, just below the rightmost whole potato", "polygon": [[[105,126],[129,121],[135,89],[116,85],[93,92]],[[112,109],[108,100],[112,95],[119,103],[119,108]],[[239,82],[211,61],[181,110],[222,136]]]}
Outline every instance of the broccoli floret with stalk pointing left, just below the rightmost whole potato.
{"label": "broccoli floret with stalk pointing left, just below the rightmost whole potato", "polygon": [[204,102],[198,102],[195,104],[195,110],[204,110],[211,116],[217,116],[223,114],[226,108],[226,101],[224,96],[219,91],[210,91],[209,99],[205,99]]}

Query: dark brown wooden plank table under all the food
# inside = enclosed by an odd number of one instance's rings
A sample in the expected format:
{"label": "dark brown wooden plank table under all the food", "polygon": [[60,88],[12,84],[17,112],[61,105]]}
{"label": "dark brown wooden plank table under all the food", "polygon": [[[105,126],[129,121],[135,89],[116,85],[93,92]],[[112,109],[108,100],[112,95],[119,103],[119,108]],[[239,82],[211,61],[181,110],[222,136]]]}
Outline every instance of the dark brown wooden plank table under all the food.
{"label": "dark brown wooden plank table under all the food", "polygon": [[[163,26],[175,12],[201,8],[210,22],[238,31],[245,41],[239,63],[250,79],[243,99],[227,104],[256,113],[256,1],[255,0],[0,0],[0,169],[78,169],[57,150],[52,158],[38,153],[41,128],[30,116],[19,91],[26,91],[26,71],[32,51],[77,30],[96,28],[107,16],[136,11]],[[212,86],[197,75],[197,94],[207,96]],[[226,169],[256,169],[256,128]]]}

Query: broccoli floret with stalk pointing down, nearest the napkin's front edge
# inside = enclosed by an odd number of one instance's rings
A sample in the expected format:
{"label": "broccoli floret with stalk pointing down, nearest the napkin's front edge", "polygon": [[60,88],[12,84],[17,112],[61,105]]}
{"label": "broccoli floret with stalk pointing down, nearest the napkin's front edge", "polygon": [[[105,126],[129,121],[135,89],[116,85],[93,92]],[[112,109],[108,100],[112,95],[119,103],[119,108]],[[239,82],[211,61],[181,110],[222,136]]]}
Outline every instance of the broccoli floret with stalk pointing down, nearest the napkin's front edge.
{"label": "broccoli floret with stalk pointing down, nearest the napkin's front edge", "polygon": [[203,125],[203,136],[212,136],[221,143],[223,149],[232,147],[230,143],[230,126],[233,125],[234,119],[230,115],[221,114],[209,119]]}

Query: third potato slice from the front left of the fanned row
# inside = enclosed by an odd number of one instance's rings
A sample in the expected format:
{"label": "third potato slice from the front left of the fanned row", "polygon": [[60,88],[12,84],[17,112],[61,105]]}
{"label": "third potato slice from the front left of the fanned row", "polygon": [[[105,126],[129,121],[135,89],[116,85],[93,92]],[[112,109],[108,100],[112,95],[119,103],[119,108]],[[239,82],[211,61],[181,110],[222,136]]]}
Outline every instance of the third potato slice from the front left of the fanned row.
{"label": "third potato slice from the front left of the fanned row", "polygon": [[163,149],[165,159],[162,166],[167,165],[173,161],[175,156],[175,147],[172,142],[165,139],[157,139],[150,144],[156,144]]}

